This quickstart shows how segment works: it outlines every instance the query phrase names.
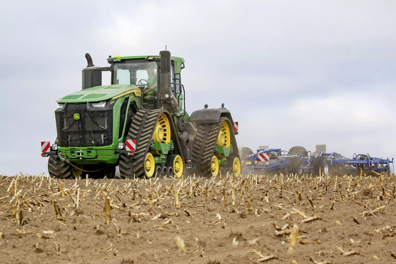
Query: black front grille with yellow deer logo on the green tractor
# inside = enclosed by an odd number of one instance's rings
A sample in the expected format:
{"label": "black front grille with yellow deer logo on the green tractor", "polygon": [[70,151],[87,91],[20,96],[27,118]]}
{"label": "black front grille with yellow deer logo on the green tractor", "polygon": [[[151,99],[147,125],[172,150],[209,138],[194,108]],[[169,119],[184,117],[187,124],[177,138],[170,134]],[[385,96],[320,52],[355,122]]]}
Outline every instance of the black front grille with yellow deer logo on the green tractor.
{"label": "black front grille with yellow deer logo on the green tractor", "polygon": [[[75,114],[79,119],[75,119]],[[60,147],[101,147],[112,143],[112,110],[88,111],[87,103],[68,103],[55,112]]]}

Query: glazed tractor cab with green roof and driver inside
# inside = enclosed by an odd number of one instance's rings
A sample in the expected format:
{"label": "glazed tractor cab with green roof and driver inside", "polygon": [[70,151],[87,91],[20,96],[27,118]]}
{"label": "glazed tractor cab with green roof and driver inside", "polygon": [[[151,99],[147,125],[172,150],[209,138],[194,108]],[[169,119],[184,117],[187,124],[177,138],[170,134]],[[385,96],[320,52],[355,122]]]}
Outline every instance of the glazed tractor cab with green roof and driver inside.
{"label": "glazed tractor cab with green roof and driver inside", "polygon": [[[111,84],[134,84],[141,89],[141,105],[145,109],[161,108],[160,56],[109,57]],[[183,67],[181,67],[183,64]],[[183,111],[183,93],[180,71],[184,60],[171,56],[170,88],[177,100],[179,111]],[[164,87],[164,86],[162,86]]]}

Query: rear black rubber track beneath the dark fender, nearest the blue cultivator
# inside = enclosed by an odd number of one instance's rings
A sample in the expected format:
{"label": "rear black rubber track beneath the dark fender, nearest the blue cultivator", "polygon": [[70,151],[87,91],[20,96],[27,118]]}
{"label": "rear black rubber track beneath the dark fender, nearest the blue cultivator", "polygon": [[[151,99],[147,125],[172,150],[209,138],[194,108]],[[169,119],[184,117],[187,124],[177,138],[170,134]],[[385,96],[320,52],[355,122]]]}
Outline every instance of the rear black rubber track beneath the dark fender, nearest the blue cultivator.
{"label": "rear black rubber track beneath the dark fender, nearest the blue cultivator", "polygon": [[[222,117],[217,123],[203,123],[197,124],[197,134],[192,143],[192,165],[196,167],[196,170],[200,176],[211,175],[211,160],[215,152],[217,137],[219,136],[221,124],[226,117]],[[228,119],[227,119],[228,120]],[[228,120],[228,122],[230,122]],[[230,124],[228,124],[230,126]],[[231,143],[234,152],[228,157],[231,162],[232,157],[239,158],[238,146],[236,145],[235,135],[232,133],[232,126],[230,126]]]}

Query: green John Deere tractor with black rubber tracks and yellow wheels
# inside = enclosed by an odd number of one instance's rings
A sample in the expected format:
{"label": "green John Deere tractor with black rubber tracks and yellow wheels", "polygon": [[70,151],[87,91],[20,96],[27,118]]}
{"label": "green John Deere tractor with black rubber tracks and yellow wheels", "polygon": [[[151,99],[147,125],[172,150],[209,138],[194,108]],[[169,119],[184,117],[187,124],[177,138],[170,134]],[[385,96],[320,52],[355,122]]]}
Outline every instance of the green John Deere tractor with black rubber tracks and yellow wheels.
{"label": "green John Deere tractor with black rubber tracks and yellow wheels", "polygon": [[[183,58],[109,56],[109,67],[97,67],[85,56],[82,90],[57,100],[55,143],[41,142],[51,177],[114,178],[116,166],[121,178],[240,175],[238,132],[224,104],[185,111]],[[102,71],[111,85],[102,85]]]}

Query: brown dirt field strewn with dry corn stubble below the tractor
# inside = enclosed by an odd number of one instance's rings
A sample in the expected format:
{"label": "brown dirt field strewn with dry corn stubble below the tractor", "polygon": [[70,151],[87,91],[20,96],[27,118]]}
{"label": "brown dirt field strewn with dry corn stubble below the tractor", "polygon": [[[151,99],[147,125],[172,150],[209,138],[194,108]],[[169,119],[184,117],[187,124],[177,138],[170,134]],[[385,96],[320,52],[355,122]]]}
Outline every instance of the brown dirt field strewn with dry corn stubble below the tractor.
{"label": "brown dirt field strewn with dry corn stubble below the tractor", "polygon": [[0,177],[0,263],[396,263],[395,176]]}

